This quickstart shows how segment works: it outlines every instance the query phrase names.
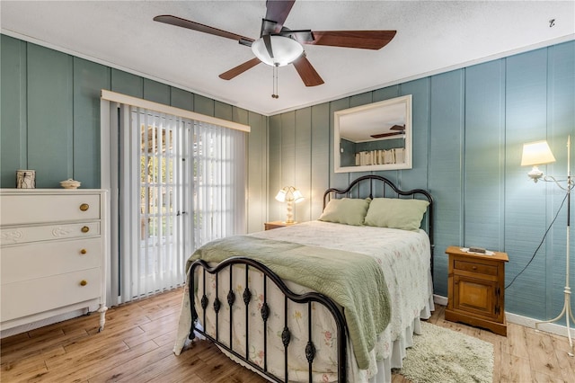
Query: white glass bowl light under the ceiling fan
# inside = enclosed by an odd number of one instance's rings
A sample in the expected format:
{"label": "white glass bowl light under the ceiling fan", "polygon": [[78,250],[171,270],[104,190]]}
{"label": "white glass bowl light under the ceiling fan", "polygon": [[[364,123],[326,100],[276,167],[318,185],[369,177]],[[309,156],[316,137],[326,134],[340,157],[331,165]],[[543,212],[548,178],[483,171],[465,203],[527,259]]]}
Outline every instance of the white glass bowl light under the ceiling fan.
{"label": "white glass bowl light under the ceiling fan", "polygon": [[263,38],[253,41],[252,52],[264,64],[272,67],[283,67],[291,64],[304,53],[304,47],[289,37],[270,36],[273,58],[266,48]]}

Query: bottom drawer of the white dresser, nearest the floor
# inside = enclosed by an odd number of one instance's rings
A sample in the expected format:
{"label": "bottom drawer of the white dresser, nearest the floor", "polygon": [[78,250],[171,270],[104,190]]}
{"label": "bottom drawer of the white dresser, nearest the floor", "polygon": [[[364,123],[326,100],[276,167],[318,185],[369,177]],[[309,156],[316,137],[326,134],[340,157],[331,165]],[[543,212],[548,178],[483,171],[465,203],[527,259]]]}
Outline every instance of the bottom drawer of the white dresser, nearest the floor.
{"label": "bottom drawer of the white dresser, nearest the floor", "polygon": [[[80,282],[86,281],[85,286]],[[100,268],[2,285],[2,322],[66,307],[102,294]]]}

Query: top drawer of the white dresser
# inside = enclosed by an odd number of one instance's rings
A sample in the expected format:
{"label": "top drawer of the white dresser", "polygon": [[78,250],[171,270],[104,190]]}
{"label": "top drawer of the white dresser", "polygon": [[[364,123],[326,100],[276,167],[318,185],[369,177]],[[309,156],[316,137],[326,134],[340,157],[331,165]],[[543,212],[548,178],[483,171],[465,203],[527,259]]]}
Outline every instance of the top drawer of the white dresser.
{"label": "top drawer of the white dresser", "polygon": [[0,214],[3,226],[100,219],[100,195],[46,195],[33,192],[3,195]]}

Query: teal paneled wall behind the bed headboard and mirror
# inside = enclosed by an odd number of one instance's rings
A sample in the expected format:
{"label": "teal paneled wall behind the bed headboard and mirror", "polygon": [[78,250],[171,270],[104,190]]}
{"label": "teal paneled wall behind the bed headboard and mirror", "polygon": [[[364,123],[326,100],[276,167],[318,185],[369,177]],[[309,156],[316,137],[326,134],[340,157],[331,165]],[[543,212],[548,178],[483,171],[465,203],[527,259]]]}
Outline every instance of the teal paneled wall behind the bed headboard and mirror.
{"label": "teal paneled wall behind the bed headboard and mirror", "polygon": [[[305,221],[320,216],[325,189],[365,174],[333,172],[334,111],[405,94],[413,97],[413,168],[374,173],[404,190],[433,194],[435,292],[447,296],[448,245],[507,252],[509,283],[531,259],[565,195],[553,183],[529,181],[529,169],[519,164],[523,143],[547,139],[557,162],[544,171],[567,174],[567,136],[575,141],[574,41],[270,117],[269,218],[284,217],[285,206],[273,199],[284,185],[305,195],[295,208],[296,220]],[[559,314],[566,219],[563,207],[533,263],[506,290],[507,311]]]}

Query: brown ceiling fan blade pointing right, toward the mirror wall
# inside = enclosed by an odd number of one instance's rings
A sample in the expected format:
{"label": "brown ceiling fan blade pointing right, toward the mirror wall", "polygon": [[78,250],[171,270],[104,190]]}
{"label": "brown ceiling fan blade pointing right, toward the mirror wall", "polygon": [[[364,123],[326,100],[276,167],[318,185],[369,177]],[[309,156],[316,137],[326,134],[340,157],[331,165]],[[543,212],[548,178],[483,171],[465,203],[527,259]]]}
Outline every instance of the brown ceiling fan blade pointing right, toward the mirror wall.
{"label": "brown ceiling fan blade pointing right, toward the mirror wall", "polygon": [[313,41],[300,41],[310,45],[332,47],[382,49],[394,39],[396,31],[312,31]]}

